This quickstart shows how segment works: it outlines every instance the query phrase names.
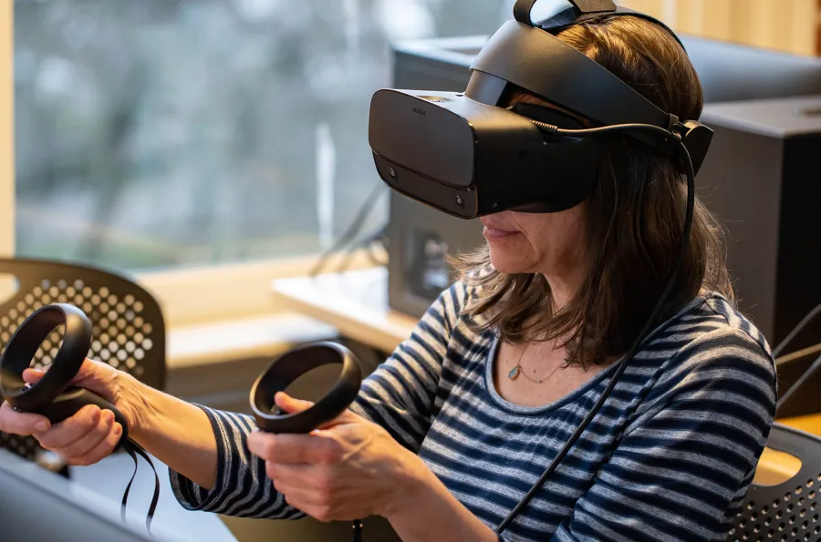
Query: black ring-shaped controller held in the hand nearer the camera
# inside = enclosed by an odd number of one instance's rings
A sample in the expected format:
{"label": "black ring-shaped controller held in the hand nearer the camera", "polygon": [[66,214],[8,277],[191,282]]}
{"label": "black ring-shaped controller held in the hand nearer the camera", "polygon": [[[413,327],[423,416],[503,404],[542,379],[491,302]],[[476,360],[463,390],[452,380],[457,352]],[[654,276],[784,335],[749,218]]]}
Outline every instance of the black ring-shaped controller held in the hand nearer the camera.
{"label": "black ring-shaped controller held in the hand nearer the camera", "polygon": [[[322,365],[341,365],[337,382],[307,410],[283,413],[276,407],[277,392],[304,373]],[[260,429],[269,433],[310,433],[342,414],[359,394],[362,370],[356,356],[338,343],[321,342],[298,346],[284,353],[260,374],[251,388],[251,411]]]}

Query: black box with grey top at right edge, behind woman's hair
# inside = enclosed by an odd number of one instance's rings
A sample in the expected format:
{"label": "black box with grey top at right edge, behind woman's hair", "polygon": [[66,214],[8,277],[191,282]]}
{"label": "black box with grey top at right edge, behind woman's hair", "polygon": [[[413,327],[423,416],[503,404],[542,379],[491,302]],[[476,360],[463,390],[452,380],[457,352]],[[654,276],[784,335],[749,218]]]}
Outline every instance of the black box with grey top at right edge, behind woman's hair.
{"label": "black box with grey top at right edge, behind woman's hair", "polygon": [[[779,343],[821,303],[821,89],[811,97],[709,104],[701,118],[715,138],[699,185],[728,232],[739,308]],[[790,348],[819,341],[816,320]]]}

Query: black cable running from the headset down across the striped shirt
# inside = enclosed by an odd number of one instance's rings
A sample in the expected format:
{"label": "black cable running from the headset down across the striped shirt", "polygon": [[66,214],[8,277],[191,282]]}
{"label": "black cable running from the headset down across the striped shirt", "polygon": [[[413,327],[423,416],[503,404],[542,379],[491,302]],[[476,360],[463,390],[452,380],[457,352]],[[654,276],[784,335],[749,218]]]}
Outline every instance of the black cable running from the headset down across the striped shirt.
{"label": "black cable running from the headset down across the striped shirt", "polygon": [[[543,126],[548,127],[548,130],[545,130],[545,131],[547,131],[547,133],[555,134],[555,135],[558,135],[558,136],[567,136],[567,137],[571,137],[571,138],[586,137],[586,136],[598,135],[598,134],[613,132],[613,131],[623,131],[622,128],[625,128],[625,129],[642,129],[642,130],[647,130],[647,131],[663,132],[663,134],[665,135],[666,138],[678,137],[675,134],[672,134],[671,132],[669,132],[668,130],[665,130],[664,128],[659,128],[659,127],[652,126],[652,125],[615,125],[615,126],[609,126],[609,127],[604,127],[604,128],[588,128],[588,129],[583,129],[583,130],[564,130],[564,129],[559,129],[559,128],[553,127],[552,125],[546,125],[543,122],[534,121],[534,124],[536,125],[537,128],[540,128],[540,129],[543,129],[543,130],[544,130]],[[540,126],[540,125],[543,125],[543,126]],[[628,363],[630,362],[630,360],[632,360],[632,358],[636,354],[636,352],[638,352],[639,346],[644,341],[645,336],[650,332],[652,326],[656,322],[656,319],[659,318],[661,310],[664,308],[665,303],[667,303],[667,300],[670,297],[670,294],[672,293],[673,288],[675,287],[676,281],[679,278],[679,273],[681,272],[681,265],[684,262],[684,255],[687,252],[687,244],[690,240],[690,232],[691,232],[691,229],[692,229],[692,215],[693,215],[693,211],[695,209],[695,172],[693,171],[693,168],[692,168],[692,159],[690,157],[690,152],[687,150],[687,148],[684,146],[684,144],[681,143],[681,138],[680,137],[679,137],[679,139],[680,139],[682,157],[684,158],[684,166],[685,166],[686,173],[687,173],[687,210],[686,210],[686,214],[685,214],[685,218],[684,218],[684,229],[683,229],[683,233],[682,233],[682,236],[681,236],[681,246],[680,246],[680,249],[679,249],[679,254],[676,257],[676,261],[673,265],[673,269],[670,271],[670,280],[667,282],[667,286],[665,287],[664,292],[661,294],[659,302],[656,304],[655,308],[650,313],[650,317],[647,319],[647,322],[644,324],[644,329],[642,329],[641,332],[639,332],[639,335],[636,337],[635,342],[632,344],[632,346],[630,346],[630,349],[629,349],[628,353],[626,353],[625,356],[621,359],[621,361],[618,362],[618,366],[616,368],[615,373],[613,373],[613,376],[610,378],[610,382],[608,383],[607,388],[605,388],[604,392],[602,392],[602,394],[598,397],[598,401],[596,402],[596,404],[593,405],[593,408],[590,410],[590,412],[587,413],[585,418],[582,420],[581,424],[578,424],[578,427],[576,428],[576,431],[573,432],[573,435],[570,435],[570,438],[567,440],[567,442],[562,447],[562,449],[559,450],[559,453],[556,454],[556,457],[554,457],[553,460],[550,462],[550,465],[547,465],[547,468],[545,469],[545,472],[542,473],[542,476],[539,476],[539,479],[530,488],[530,490],[522,498],[522,500],[519,501],[519,503],[516,506],[514,506],[514,509],[511,510],[510,514],[508,514],[507,517],[504,518],[504,521],[499,524],[499,527],[496,527],[496,533],[502,533],[504,531],[504,529],[506,529],[513,522],[515,517],[518,516],[522,512],[522,510],[525,509],[525,506],[527,506],[527,504],[531,501],[531,499],[533,499],[536,492],[542,486],[545,485],[545,482],[546,482],[547,478],[550,475],[552,475],[554,473],[554,471],[556,471],[556,467],[565,458],[567,453],[570,451],[570,448],[574,444],[576,444],[576,441],[578,440],[578,438],[582,435],[584,430],[587,428],[587,425],[589,425],[590,422],[593,421],[593,418],[596,416],[596,414],[598,414],[599,409],[601,409],[602,404],[605,403],[605,401],[607,400],[609,394],[613,391],[613,388],[616,387],[616,383],[618,383],[619,377],[621,377],[621,374],[624,373],[625,369],[627,369]]]}

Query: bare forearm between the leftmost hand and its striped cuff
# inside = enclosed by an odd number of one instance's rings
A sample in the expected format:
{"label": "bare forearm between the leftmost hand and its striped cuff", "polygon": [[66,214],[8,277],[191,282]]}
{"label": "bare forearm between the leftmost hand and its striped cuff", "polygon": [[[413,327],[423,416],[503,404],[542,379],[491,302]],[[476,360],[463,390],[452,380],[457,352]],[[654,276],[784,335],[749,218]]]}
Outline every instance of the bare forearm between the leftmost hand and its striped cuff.
{"label": "bare forearm between the leftmost hand and its striped cuff", "polygon": [[132,401],[140,405],[130,437],[193,483],[213,488],[217,474],[216,438],[203,410],[137,381],[127,387]]}

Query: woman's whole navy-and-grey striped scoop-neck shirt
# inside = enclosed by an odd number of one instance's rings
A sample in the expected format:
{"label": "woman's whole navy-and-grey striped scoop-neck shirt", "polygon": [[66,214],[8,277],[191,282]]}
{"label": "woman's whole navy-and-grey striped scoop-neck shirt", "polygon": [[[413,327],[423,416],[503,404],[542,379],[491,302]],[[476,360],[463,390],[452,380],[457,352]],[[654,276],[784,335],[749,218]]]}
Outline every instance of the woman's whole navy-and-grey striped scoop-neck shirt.
{"label": "woman's whole navy-and-grey striped scoop-neck shirt", "polygon": [[[554,403],[528,407],[494,387],[498,333],[473,332],[456,282],[362,383],[352,410],[418,453],[464,506],[496,527],[556,456],[616,364]],[[216,486],[171,472],[182,506],[296,518],[251,455],[253,418],[203,407],[218,448]],[[723,540],[775,410],[764,337],[720,295],[656,328],[592,423],[504,541]]]}

